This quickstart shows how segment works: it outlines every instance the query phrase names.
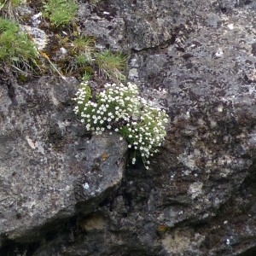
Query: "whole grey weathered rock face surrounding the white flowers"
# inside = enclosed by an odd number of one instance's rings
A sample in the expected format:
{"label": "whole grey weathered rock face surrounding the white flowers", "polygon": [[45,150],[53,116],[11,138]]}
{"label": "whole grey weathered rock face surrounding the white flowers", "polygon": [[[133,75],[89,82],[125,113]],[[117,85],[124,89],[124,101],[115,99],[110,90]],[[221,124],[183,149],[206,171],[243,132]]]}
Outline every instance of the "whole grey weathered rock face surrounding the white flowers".
{"label": "whole grey weathered rock face surrounding the white flowers", "polygon": [[[171,3],[170,3],[171,2]],[[131,55],[128,79],[166,108],[146,172],[118,135],[90,137],[78,84],[1,84],[3,255],[253,255],[253,1],[80,3],[84,33]]]}

